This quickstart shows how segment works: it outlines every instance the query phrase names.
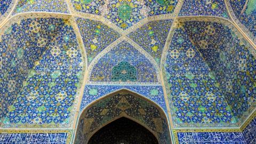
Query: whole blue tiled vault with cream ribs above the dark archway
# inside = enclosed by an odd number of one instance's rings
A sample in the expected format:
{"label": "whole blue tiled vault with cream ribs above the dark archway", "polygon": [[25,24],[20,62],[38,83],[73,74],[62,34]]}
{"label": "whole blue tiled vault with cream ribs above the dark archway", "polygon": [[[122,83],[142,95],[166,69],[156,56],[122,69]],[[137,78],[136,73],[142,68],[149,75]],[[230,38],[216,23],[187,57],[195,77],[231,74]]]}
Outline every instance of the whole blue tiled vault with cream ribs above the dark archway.
{"label": "whole blue tiled vault with cream ribs above the dark archway", "polygon": [[171,127],[239,127],[256,102],[256,1],[4,0],[1,127],[63,127],[127,89]]}

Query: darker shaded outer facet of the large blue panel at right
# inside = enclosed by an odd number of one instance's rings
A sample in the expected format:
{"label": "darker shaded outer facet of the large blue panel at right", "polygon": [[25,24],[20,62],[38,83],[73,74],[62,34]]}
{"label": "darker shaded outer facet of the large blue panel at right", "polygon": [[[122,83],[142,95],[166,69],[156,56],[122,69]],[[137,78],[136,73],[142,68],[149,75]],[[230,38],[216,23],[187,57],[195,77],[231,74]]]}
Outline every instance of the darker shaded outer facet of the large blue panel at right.
{"label": "darker shaded outer facet of the large blue panel at right", "polygon": [[190,21],[184,28],[219,82],[234,122],[244,121],[256,106],[256,50],[222,23]]}

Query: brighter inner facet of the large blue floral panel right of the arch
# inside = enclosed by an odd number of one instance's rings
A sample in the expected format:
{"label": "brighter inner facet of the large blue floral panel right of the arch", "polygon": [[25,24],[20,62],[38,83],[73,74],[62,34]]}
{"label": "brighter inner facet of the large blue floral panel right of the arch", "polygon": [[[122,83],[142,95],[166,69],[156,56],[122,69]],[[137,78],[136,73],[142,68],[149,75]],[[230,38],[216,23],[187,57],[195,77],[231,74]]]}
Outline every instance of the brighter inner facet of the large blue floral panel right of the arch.
{"label": "brighter inner facet of the large blue floral panel right of the arch", "polygon": [[164,63],[174,126],[235,123],[214,73],[180,24]]}

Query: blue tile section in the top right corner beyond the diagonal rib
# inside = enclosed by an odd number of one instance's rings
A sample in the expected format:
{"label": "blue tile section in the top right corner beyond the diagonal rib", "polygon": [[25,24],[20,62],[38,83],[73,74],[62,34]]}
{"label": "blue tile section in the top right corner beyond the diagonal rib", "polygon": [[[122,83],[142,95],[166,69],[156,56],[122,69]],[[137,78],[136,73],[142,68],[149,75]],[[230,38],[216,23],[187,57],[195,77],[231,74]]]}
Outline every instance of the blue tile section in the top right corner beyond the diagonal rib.
{"label": "blue tile section in the top right corner beyond the diagonal rib", "polygon": [[253,34],[256,38],[256,1],[255,0],[229,0],[236,18]]}

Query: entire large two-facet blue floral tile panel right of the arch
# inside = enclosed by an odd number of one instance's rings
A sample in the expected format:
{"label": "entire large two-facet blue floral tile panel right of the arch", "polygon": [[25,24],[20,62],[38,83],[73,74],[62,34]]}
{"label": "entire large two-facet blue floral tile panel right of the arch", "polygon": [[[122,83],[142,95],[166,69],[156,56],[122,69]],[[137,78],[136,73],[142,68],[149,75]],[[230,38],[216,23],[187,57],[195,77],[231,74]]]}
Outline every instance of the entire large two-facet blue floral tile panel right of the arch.
{"label": "entire large two-facet blue floral tile panel right of the arch", "polygon": [[197,20],[184,18],[175,25],[164,65],[174,126],[242,125],[255,109],[256,51],[228,22]]}

